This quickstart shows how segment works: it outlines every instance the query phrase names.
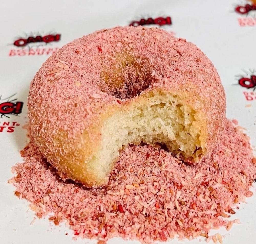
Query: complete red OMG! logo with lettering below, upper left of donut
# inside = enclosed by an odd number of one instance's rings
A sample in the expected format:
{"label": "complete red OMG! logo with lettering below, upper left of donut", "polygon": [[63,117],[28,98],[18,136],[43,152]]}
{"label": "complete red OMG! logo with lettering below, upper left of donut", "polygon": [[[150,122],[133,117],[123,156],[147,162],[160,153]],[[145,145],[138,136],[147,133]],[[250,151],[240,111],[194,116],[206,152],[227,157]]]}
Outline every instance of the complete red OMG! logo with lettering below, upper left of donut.
{"label": "complete red OMG! logo with lettering below, upper left of donut", "polygon": [[56,52],[58,47],[48,47],[47,45],[52,45],[53,42],[58,42],[61,38],[61,34],[58,33],[39,33],[31,32],[30,34],[24,33],[23,36],[15,38],[12,45],[17,47],[16,49],[11,49],[9,56],[25,56],[25,55],[49,55]]}

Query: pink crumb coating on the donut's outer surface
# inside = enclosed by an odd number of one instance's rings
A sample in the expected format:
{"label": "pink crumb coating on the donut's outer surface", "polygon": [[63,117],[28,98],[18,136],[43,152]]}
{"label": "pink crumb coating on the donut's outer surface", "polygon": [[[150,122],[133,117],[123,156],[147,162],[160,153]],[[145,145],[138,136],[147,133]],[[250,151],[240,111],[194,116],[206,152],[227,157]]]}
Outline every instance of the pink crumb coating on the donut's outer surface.
{"label": "pink crumb coating on the donut's outer surface", "polygon": [[53,165],[58,158],[47,155],[61,151],[65,158],[69,153],[56,147],[60,130],[67,132],[63,143],[72,148],[81,144],[79,135],[90,128],[108,105],[122,106],[118,103],[120,99],[102,92],[99,84],[103,82],[101,72],[112,72],[114,64],[120,62],[116,56],[124,53],[148,60],[144,68],[150,71],[152,83],[144,92],[157,88],[187,92],[190,94],[187,104],[195,108],[203,104],[208,151],[214,147],[215,136],[223,129],[226,99],[211,61],[194,44],[162,29],[116,27],[96,31],[63,46],[48,58],[31,82],[28,97],[31,139]]}

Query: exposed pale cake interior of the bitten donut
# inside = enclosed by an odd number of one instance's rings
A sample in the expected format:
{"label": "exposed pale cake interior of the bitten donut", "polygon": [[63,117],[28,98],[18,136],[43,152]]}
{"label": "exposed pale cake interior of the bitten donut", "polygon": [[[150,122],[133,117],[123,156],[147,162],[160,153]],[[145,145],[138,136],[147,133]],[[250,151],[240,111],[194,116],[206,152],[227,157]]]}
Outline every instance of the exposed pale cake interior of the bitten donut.
{"label": "exposed pale cake interior of the bitten donut", "polygon": [[104,122],[97,155],[103,175],[111,171],[119,150],[129,144],[160,143],[189,164],[205,154],[207,126],[201,112],[184,104],[177,95],[162,91],[146,92],[138,100]]}

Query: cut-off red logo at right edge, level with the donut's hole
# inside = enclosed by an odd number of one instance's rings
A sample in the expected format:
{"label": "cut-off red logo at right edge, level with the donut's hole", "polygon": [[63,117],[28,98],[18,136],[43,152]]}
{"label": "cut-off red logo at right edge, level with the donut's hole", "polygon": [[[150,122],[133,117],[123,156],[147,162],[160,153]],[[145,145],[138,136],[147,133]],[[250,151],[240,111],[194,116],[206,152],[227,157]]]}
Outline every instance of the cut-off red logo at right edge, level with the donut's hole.
{"label": "cut-off red logo at right edge, level with the donut's hole", "polygon": [[237,84],[247,91],[243,91],[243,95],[247,101],[256,100],[256,70],[249,69],[249,71],[242,70],[244,74],[236,75]]}

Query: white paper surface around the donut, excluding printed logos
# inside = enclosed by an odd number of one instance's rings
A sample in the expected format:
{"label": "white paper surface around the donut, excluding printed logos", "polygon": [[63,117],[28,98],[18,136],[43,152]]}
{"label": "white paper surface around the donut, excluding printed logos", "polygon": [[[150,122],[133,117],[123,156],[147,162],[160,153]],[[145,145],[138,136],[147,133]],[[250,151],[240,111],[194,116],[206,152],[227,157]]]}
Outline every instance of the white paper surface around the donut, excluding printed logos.
{"label": "white paper surface around the donut, excluding printed logos", "polygon": [[[54,48],[79,38],[97,29],[125,26],[141,18],[170,16],[172,25],[163,28],[174,31],[176,36],[194,42],[212,60],[221,77],[227,93],[227,117],[237,118],[239,125],[247,128],[246,133],[256,145],[256,100],[247,101],[243,91],[248,90],[237,84],[235,75],[244,74],[243,70],[256,70],[256,11],[248,15],[235,13],[236,5],[250,3],[241,0],[168,0],[168,1],[1,1],[0,3],[0,95],[8,97],[17,93],[15,98],[24,102],[23,112],[3,121],[16,121],[20,126],[13,133],[0,132],[0,243],[75,243],[73,233],[67,226],[54,226],[48,219],[36,219],[30,222],[34,213],[28,211],[28,202],[14,196],[14,187],[7,184],[13,175],[11,167],[22,162],[19,155],[26,144],[26,130],[22,126],[27,122],[26,101],[29,83],[41,64],[49,55],[9,56],[18,36],[24,32],[61,34],[59,42],[40,48]],[[255,25],[241,27],[238,18],[255,19]],[[32,46],[29,44],[28,46]],[[27,46],[26,46],[27,48]],[[245,74],[244,74],[245,75]],[[245,75],[246,76],[246,75]],[[247,77],[247,76],[246,76]],[[255,94],[256,95],[256,94]],[[1,101],[0,101],[1,103]],[[246,105],[251,105],[246,107]],[[254,184],[255,185],[255,184]],[[255,193],[255,188],[252,189]],[[248,199],[248,204],[240,204],[235,218],[240,225],[234,225],[231,231],[224,228],[217,232],[225,235],[224,243],[255,243],[256,240],[256,196]],[[68,236],[65,233],[69,233]],[[211,234],[216,233],[212,231]],[[185,240],[182,243],[198,243]],[[76,243],[95,243],[79,239]],[[109,243],[124,242],[115,238]],[[170,243],[176,243],[173,240]],[[135,243],[135,242],[134,242]]]}

